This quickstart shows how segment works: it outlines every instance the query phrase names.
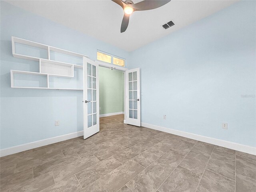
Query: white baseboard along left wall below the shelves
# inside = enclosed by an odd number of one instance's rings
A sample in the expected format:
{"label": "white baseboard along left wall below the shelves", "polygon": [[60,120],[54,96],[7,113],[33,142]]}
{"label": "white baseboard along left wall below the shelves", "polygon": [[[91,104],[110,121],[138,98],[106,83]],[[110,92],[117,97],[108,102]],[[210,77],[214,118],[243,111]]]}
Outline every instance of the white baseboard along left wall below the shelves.
{"label": "white baseboard along left wall below the shelves", "polygon": [[39,140],[39,141],[35,141],[35,142],[30,142],[30,143],[10,147],[10,148],[5,148],[5,149],[0,150],[0,156],[3,157],[6,155],[11,155],[14,153],[18,153],[18,152],[34,149],[37,147],[42,147],[45,145],[57,143],[60,141],[80,137],[83,135],[84,135],[84,131],[78,131],[78,132],[74,132],[74,133],[70,133],[70,134],[66,134],[66,135],[61,135],[61,136],[43,139],[43,140]]}

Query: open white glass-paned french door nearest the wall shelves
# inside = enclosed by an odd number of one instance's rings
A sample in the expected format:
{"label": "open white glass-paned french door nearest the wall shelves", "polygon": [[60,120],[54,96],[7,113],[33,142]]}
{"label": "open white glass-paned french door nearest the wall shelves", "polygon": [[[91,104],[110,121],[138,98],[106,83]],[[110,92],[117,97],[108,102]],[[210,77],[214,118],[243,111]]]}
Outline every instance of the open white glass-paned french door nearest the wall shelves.
{"label": "open white glass-paned french door nearest the wall shelves", "polygon": [[100,131],[99,65],[83,57],[84,139]]}

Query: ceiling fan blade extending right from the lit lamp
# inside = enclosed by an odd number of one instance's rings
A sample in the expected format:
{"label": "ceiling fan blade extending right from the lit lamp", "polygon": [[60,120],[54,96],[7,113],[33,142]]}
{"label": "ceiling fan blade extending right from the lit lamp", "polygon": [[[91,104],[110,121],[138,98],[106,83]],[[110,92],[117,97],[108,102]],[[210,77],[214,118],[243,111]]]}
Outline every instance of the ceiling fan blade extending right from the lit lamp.
{"label": "ceiling fan blade extending right from the lit lamp", "polygon": [[151,10],[151,9],[156,9],[158,7],[161,7],[170,1],[171,0],[144,0],[129,6],[140,11]]}

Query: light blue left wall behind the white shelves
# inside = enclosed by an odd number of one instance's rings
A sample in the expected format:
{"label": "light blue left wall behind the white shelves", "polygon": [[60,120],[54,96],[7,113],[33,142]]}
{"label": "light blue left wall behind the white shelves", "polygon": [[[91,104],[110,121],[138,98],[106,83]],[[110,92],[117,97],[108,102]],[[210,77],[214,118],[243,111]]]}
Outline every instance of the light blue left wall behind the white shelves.
{"label": "light blue left wall behind the white shelves", "polygon": [[12,56],[11,36],[92,60],[97,49],[128,57],[124,50],[1,1],[1,149],[83,130],[82,91],[10,88],[10,69],[39,72],[38,62]]}

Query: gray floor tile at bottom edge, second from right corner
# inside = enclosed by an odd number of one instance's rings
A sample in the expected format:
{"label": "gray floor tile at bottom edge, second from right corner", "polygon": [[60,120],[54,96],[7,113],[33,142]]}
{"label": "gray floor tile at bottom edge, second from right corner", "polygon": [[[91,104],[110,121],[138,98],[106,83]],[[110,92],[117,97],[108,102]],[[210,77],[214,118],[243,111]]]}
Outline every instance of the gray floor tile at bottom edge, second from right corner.
{"label": "gray floor tile at bottom edge, second from right corner", "polygon": [[234,192],[235,181],[205,170],[196,192]]}

